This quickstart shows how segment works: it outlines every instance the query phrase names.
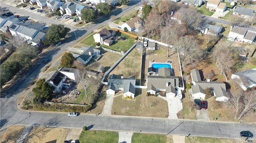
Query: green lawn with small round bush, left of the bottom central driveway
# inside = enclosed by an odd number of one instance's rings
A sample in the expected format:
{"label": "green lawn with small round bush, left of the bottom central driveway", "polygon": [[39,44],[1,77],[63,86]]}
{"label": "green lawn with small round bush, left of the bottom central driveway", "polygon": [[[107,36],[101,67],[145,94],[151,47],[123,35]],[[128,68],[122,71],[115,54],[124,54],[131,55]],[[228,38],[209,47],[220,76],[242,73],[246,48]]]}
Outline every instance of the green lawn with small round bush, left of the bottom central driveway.
{"label": "green lawn with small round bush, left of the bottom central driveway", "polygon": [[[93,126],[93,125],[91,125]],[[89,128],[88,126],[87,128]],[[114,131],[82,131],[79,136],[80,143],[118,143],[118,132]]]}

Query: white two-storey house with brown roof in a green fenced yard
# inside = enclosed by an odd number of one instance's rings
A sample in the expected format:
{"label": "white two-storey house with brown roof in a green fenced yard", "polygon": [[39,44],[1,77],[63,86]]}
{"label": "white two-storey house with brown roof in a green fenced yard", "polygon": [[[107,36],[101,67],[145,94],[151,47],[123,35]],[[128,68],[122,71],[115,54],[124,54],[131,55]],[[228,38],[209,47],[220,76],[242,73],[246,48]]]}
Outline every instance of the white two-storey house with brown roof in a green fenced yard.
{"label": "white two-storey house with brown roof in a green fenced yard", "polygon": [[116,31],[108,30],[106,28],[100,30],[98,33],[93,35],[94,42],[100,43],[101,45],[110,46],[113,43],[114,35],[116,35]]}

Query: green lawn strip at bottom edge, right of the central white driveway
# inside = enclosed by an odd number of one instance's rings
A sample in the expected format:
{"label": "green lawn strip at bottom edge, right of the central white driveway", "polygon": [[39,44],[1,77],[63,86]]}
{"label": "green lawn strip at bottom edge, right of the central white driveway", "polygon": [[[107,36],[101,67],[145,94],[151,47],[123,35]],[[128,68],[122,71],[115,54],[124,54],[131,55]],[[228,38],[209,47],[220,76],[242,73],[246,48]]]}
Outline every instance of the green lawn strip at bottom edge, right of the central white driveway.
{"label": "green lawn strip at bottom edge, right of the central white driveway", "polygon": [[166,135],[133,133],[132,143],[167,143]]}

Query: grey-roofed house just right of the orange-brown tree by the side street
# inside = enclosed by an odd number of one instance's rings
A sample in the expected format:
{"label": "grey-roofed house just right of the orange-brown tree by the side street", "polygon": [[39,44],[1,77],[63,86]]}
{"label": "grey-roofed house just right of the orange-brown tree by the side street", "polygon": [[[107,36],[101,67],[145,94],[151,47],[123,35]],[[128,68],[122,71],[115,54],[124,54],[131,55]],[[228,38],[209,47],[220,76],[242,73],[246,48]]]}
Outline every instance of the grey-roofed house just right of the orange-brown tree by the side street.
{"label": "grey-roofed house just right of the orange-brown tree by the side street", "polygon": [[95,49],[92,45],[90,47],[82,47],[84,51],[81,53],[81,55],[77,58],[77,60],[80,60],[86,65],[91,59],[98,60],[100,57],[100,50]]}

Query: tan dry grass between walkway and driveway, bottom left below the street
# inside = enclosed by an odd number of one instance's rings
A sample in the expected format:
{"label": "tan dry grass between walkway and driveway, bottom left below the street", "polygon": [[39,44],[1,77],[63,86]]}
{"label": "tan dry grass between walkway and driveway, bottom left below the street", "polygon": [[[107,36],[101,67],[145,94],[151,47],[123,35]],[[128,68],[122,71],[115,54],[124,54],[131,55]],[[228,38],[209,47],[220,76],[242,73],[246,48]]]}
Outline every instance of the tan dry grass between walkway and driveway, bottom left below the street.
{"label": "tan dry grass between walkway and driveway, bottom left below the street", "polygon": [[68,129],[54,127],[34,127],[30,130],[26,143],[46,143],[56,141],[63,143],[66,139]]}

